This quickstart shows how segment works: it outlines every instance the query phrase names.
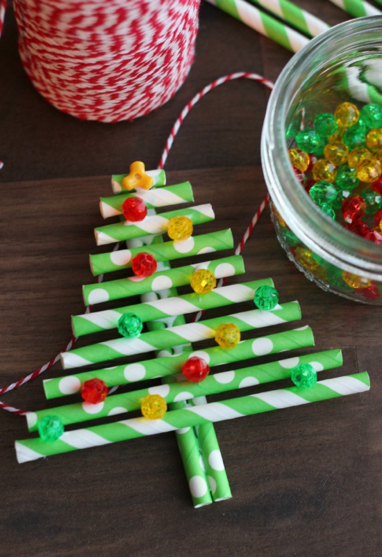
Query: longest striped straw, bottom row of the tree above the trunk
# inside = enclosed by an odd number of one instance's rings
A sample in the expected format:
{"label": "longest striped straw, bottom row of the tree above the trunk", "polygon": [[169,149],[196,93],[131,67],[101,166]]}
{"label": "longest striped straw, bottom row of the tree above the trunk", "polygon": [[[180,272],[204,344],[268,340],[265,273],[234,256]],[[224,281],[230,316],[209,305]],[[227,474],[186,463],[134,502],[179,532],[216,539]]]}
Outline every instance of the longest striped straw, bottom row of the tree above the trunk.
{"label": "longest striped straw, bottom row of the tree above the trunk", "polygon": [[56,441],[43,441],[39,437],[15,442],[18,462],[28,462],[44,456],[67,453],[92,446],[126,441],[147,435],[200,426],[202,423],[223,421],[242,416],[281,410],[297,405],[329,400],[368,391],[369,376],[366,372],[317,381],[313,387],[288,387],[265,391],[249,396],[239,396],[226,401],[187,407],[166,412],[162,419],[131,418],[90,428],[65,431]]}

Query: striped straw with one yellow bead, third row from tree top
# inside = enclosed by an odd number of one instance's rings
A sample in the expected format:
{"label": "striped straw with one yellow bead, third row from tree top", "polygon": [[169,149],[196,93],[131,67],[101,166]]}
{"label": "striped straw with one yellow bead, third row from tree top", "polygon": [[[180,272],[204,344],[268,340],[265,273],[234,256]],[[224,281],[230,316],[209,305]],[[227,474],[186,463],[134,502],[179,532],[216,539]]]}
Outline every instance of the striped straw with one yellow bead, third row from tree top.
{"label": "striped straw with one yellow bead, third row from tree top", "polygon": [[124,220],[121,223],[97,227],[94,230],[97,245],[105,245],[113,242],[121,242],[150,236],[152,234],[165,234],[169,220],[175,216],[186,216],[192,220],[194,226],[208,223],[215,218],[213,207],[210,203],[196,205],[187,209],[177,209],[165,213],[147,216],[138,223]]}

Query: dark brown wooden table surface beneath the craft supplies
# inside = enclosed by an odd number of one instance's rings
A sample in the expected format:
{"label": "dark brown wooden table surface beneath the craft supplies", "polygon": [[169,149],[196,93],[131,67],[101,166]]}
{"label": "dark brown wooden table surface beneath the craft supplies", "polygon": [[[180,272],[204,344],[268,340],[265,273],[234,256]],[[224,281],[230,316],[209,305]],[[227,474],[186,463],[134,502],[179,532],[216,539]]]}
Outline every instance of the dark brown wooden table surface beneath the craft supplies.
{"label": "dark brown wooden table surface beneath the craft supplies", "polygon": [[[299,5],[330,24],[347,18],[326,0]],[[0,40],[1,385],[69,340],[70,315],[83,311],[81,284],[92,282],[92,229],[101,224],[98,199],[110,195],[110,174],[136,159],[155,168],[178,113],[206,83],[236,71],[274,80],[290,56],[202,4],[194,65],[171,101],[135,122],[80,122],[33,89],[8,9]],[[237,243],[263,200],[267,98],[251,81],[228,83],[194,108],[174,142],[168,183],[190,180],[196,201],[215,209],[215,223],[201,232],[231,227]],[[18,465],[14,442],[27,437],[25,421],[2,412],[1,557],[381,555],[381,308],[308,282],[277,243],[268,210],[242,255],[245,280],[273,277],[282,301],[299,300],[301,325],[315,333],[311,350],[343,348],[340,374],[369,371],[372,389],[217,423],[233,499],[197,510],[174,434]],[[61,374],[56,364],[45,377]],[[42,378],[1,400],[30,410],[49,405]]]}

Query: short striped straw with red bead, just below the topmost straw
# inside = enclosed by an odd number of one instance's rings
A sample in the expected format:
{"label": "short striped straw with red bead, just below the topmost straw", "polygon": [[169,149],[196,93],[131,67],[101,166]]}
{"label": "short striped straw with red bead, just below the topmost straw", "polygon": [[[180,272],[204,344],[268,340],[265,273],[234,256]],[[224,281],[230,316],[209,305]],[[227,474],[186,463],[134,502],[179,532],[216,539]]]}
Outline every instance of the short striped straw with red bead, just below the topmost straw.
{"label": "short striped straw with red bead, just below the topmost straw", "polygon": [[146,203],[148,209],[194,201],[189,181],[174,184],[174,186],[151,188],[151,190],[138,189],[133,193],[120,193],[119,195],[113,195],[113,197],[101,197],[99,209],[103,218],[122,215],[122,205],[129,197],[140,197]]}

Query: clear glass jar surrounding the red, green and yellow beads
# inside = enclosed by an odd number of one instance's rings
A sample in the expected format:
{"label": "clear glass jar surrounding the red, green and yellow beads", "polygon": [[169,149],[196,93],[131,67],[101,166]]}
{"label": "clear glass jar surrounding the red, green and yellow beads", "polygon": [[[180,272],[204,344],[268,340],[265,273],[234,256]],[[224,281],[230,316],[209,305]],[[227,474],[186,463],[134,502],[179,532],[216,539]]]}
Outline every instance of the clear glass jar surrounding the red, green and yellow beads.
{"label": "clear glass jar surrounding the red, green and yellow beads", "polygon": [[267,106],[263,172],[277,238],[297,268],[326,291],[382,305],[382,245],[326,216],[288,156],[291,130],[313,127],[319,113],[348,101],[382,106],[382,16],[334,26],[291,58]]}

